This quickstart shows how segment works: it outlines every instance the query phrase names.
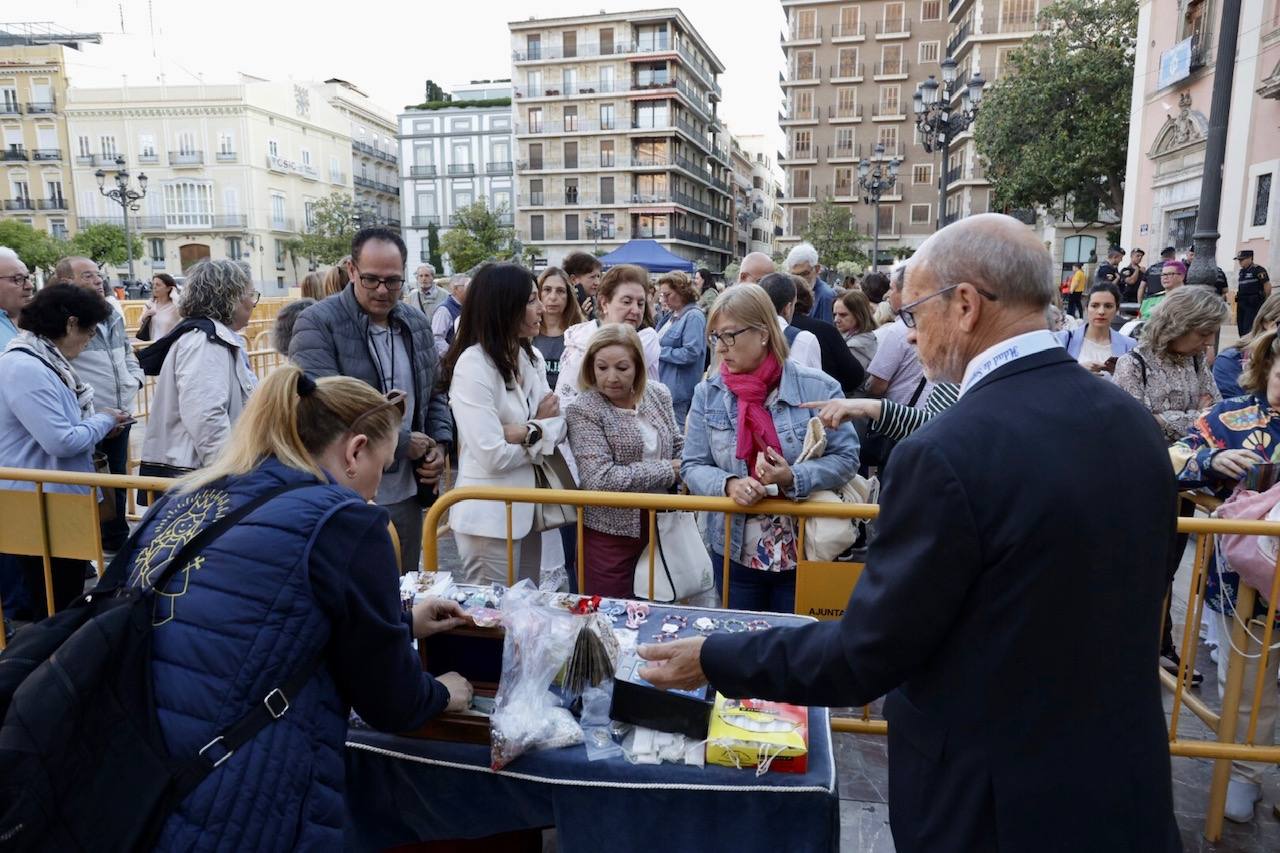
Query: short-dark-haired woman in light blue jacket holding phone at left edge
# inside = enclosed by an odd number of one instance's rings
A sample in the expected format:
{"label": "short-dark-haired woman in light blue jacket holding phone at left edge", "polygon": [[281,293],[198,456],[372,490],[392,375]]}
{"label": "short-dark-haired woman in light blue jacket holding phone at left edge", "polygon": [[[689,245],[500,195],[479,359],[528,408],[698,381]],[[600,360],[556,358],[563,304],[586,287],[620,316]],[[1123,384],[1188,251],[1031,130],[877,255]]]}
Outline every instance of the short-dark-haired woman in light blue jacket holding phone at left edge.
{"label": "short-dark-haired woman in light blue jacket holding phone at left edge", "polygon": [[[110,316],[106,300],[74,284],[46,287],[22,309],[20,330],[0,355],[0,466],[93,471],[93,446],[129,415],[101,407],[93,414],[93,389],[81,382],[70,362],[88,346],[97,324]],[[0,489],[31,492],[35,484],[0,480]],[[45,491],[88,493],[87,487],[54,483]],[[44,562],[40,557],[17,560],[40,617],[47,610]],[[84,562],[55,558],[52,576],[52,603],[61,610],[84,587]]]}

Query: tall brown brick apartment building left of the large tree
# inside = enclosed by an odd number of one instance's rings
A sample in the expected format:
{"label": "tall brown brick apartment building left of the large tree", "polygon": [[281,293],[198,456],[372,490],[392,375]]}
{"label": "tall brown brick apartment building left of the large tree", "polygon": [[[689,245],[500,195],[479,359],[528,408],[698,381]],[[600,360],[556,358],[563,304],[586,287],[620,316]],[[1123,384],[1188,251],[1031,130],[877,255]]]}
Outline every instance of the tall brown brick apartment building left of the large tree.
{"label": "tall brown brick apartment building left of the large tree", "polygon": [[[846,207],[858,231],[874,231],[858,164],[901,160],[897,184],[881,197],[882,263],[893,246],[915,247],[933,233],[937,161],[918,141],[911,96],[938,63],[947,40],[946,0],[782,0],[786,73],[778,117],[786,136],[780,247],[801,240],[817,205]],[[869,242],[869,241],[868,241]]]}

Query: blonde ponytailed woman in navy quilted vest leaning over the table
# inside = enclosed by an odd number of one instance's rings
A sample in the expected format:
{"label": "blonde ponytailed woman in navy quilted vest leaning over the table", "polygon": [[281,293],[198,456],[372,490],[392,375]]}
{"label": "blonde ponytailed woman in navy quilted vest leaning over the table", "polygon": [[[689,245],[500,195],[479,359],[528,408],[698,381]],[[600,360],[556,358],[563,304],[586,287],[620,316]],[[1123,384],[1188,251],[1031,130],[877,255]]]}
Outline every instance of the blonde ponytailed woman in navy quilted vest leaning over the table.
{"label": "blonde ponytailed woman in navy quilted vest leaning over the table", "polygon": [[411,631],[463,624],[461,608],[430,601],[402,613],[387,511],[367,503],[394,457],[403,406],[403,392],[278,368],[221,456],[180,480],[127,546],[129,580],[146,584],[206,525],[308,484],[252,510],[156,598],[155,704],[173,756],[196,754],[303,661],[324,661],[283,716],[180,803],[157,849],[340,849],[349,708],[401,731],[470,703],[466,680],[426,675],[410,644]]}

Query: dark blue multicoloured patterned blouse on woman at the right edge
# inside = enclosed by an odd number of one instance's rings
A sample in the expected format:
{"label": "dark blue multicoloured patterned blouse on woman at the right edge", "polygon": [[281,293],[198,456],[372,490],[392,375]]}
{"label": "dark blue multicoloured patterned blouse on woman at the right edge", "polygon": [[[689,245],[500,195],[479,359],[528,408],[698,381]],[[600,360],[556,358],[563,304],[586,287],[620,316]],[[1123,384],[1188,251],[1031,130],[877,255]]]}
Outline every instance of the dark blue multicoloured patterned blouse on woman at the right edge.
{"label": "dark blue multicoloured patterned blouse on woman at the right edge", "polygon": [[[1245,394],[1224,400],[1196,419],[1192,430],[1169,448],[1178,482],[1208,487],[1219,497],[1228,497],[1236,480],[1224,478],[1211,467],[1213,455],[1224,450],[1248,450],[1265,462],[1280,462],[1280,410],[1271,409],[1266,397]],[[1204,603],[1217,612],[1230,613],[1240,578],[1226,566],[1222,549],[1215,551],[1216,565],[1210,567]],[[1258,608],[1266,613],[1266,607]],[[1258,615],[1258,613],[1256,613]]]}

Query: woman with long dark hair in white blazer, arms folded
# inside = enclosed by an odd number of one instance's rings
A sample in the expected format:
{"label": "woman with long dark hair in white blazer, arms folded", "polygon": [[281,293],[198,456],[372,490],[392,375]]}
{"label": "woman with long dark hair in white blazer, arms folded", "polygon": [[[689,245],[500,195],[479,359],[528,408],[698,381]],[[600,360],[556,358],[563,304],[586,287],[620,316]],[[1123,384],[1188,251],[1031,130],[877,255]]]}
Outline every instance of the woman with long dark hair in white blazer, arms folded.
{"label": "woman with long dark hair in white blazer, arms folded", "polygon": [[[517,264],[490,264],[467,288],[458,333],[444,357],[444,382],[457,421],[457,485],[532,488],[534,464],[564,441],[559,400],[532,346],[543,306],[538,282]],[[541,535],[534,507],[511,512],[516,579],[538,580]],[[466,583],[507,583],[507,508],[463,501],[449,510]]]}

